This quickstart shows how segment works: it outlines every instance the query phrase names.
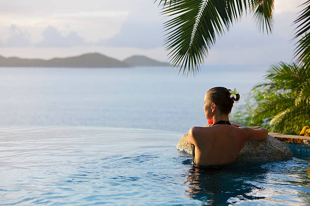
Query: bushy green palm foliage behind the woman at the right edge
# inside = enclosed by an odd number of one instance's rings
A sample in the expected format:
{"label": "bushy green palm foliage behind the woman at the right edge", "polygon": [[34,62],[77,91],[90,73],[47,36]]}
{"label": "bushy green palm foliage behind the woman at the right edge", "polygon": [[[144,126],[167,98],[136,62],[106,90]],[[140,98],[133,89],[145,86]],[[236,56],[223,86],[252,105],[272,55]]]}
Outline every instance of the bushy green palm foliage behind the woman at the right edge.
{"label": "bushy green palm foliage behind the woman at the right edge", "polygon": [[310,75],[301,76],[302,69],[283,62],[272,66],[231,119],[261,125],[269,132],[298,135],[310,123]]}

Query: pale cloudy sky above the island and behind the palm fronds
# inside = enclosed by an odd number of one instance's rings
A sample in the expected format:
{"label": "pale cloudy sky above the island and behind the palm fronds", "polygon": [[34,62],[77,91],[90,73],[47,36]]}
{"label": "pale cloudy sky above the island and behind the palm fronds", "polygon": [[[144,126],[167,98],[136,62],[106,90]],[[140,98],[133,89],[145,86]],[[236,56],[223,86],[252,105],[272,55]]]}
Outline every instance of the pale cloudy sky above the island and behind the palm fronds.
{"label": "pale cloudy sky above the island and behind the palm fronds", "polygon": [[[259,32],[252,16],[217,38],[206,65],[270,65],[292,61],[293,21],[304,0],[275,0],[272,34]],[[0,0],[0,55],[43,58],[99,52],[168,61],[164,16],[153,0]]]}

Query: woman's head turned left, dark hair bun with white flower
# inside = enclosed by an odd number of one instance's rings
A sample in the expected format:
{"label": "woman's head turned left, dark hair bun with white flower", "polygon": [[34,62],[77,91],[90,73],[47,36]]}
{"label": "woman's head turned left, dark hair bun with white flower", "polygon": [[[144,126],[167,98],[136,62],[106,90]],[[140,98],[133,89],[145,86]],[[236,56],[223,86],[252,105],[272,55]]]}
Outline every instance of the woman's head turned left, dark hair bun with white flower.
{"label": "woman's head turned left, dark hair bun with white flower", "polygon": [[[225,87],[214,87],[207,91],[205,95],[205,112],[213,111],[216,108],[221,114],[229,114],[235,101],[238,101],[240,95],[237,93],[236,98],[230,97],[230,89]],[[208,117],[207,117],[208,118]]]}

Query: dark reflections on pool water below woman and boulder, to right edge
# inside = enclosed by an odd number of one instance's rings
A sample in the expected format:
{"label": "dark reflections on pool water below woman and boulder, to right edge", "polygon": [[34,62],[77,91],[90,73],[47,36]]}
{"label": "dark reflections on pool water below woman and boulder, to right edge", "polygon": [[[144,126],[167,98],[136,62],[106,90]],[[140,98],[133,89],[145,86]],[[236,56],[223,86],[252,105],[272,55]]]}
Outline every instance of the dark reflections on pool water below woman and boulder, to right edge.
{"label": "dark reflections on pool water below woman and boulder, to right edge", "polygon": [[309,168],[309,161],[296,158],[221,168],[191,167],[183,184],[188,188],[185,195],[202,205],[310,205]]}

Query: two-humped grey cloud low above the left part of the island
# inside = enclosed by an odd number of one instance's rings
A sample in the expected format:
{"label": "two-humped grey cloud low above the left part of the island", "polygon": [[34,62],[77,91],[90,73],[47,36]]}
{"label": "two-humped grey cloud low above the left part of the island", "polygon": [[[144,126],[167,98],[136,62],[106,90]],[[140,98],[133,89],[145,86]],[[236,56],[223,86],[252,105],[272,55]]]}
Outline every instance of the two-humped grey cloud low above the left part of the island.
{"label": "two-humped grey cloud low above the left part of the island", "polygon": [[35,44],[38,47],[72,47],[86,44],[78,33],[71,31],[64,36],[53,26],[47,27],[42,35],[43,40]]}

